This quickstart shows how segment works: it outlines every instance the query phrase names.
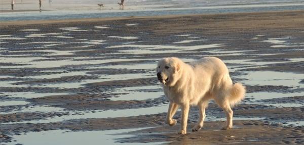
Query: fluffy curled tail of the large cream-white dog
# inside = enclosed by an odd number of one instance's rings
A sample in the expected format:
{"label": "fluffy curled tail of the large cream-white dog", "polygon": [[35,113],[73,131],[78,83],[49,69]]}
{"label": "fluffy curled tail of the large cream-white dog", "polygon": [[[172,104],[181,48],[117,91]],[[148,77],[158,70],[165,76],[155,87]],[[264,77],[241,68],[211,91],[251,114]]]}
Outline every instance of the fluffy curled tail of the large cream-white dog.
{"label": "fluffy curled tail of the large cream-white dog", "polygon": [[229,104],[231,107],[237,105],[245,98],[246,88],[241,83],[235,83],[230,90]]}

